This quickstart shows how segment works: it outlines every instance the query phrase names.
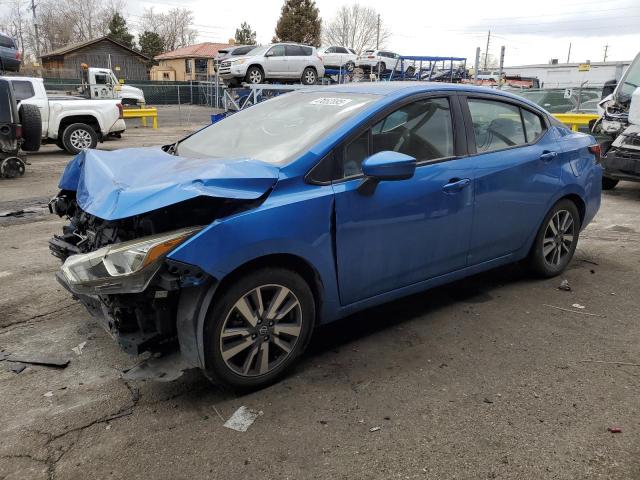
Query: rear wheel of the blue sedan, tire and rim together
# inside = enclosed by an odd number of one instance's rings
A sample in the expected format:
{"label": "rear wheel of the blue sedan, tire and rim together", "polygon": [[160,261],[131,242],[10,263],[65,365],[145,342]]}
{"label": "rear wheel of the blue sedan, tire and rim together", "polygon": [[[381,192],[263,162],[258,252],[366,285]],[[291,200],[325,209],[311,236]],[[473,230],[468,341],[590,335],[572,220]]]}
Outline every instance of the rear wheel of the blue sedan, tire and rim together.
{"label": "rear wheel of the blue sedan, tire and rim together", "polygon": [[528,257],[529,268],[544,278],[559,275],[573,258],[579,235],[578,207],[571,200],[560,200],[549,210],[538,230]]}

